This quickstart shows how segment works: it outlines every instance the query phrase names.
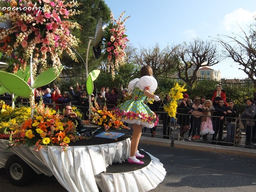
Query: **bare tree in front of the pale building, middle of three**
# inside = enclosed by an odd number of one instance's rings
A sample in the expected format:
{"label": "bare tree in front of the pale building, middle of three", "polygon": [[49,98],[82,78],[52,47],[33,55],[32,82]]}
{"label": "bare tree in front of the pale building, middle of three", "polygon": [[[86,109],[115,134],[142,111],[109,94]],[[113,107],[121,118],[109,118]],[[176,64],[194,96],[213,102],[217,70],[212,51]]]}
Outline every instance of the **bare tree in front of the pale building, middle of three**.
{"label": "bare tree in front of the pale building, middle of three", "polygon": [[[196,72],[200,67],[213,66],[220,62],[219,51],[212,41],[203,41],[199,38],[192,42],[180,44],[175,49],[175,54],[180,58],[180,64],[176,66],[178,77],[184,80],[191,87],[196,82]],[[188,76],[188,69],[193,68],[192,76]]]}

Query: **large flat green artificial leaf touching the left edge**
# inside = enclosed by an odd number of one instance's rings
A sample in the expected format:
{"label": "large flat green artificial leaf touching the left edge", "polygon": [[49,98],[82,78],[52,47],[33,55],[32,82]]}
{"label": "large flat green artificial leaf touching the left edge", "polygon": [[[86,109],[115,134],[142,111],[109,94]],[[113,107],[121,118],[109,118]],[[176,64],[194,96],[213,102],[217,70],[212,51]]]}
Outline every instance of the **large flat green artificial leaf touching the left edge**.
{"label": "large flat green artificial leaf touching the left edge", "polygon": [[32,94],[30,86],[23,79],[12,73],[0,71],[0,82],[8,92],[20,97],[30,98]]}

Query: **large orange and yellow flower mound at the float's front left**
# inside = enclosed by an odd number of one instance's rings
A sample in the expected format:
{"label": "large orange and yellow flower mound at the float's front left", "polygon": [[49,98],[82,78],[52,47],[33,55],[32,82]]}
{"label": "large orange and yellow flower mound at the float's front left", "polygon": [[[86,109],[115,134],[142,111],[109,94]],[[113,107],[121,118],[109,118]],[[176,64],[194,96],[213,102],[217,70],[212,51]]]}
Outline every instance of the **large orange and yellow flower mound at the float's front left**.
{"label": "large orange and yellow flower mound at the float's front left", "polygon": [[75,142],[79,139],[89,139],[88,137],[78,136],[76,134],[76,125],[64,118],[61,114],[50,114],[49,108],[44,104],[36,106],[32,118],[25,120],[10,136],[12,146],[24,144],[25,146],[35,145],[38,151],[42,145],[58,144],[63,146],[66,152],[66,146],[70,141]]}

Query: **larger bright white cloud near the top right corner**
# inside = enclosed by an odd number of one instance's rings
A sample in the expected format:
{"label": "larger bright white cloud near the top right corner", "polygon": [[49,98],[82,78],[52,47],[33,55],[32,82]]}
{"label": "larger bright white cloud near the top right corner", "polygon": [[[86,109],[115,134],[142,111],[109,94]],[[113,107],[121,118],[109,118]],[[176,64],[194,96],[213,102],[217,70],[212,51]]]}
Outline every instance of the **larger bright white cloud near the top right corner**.
{"label": "larger bright white cloud near the top right corner", "polygon": [[253,16],[255,14],[256,11],[250,12],[248,10],[238,8],[224,16],[222,20],[222,28],[224,28],[227,32],[238,33],[241,31],[238,24],[242,27],[242,29],[244,29],[246,25],[249,26],[250,24],[254,23]]}

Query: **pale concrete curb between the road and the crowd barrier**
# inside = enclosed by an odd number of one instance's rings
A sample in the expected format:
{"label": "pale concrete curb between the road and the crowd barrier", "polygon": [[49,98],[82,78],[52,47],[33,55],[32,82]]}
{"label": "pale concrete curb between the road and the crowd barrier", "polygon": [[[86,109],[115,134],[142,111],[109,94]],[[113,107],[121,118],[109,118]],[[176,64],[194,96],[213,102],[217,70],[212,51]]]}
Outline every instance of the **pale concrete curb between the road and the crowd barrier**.
{"label": "pale concrete curb between the road and the crowd barrier", "polygon": [[[151,138],[151,137],[145,137],[145,136],[141,136],[140,138],[140,142],[144,144],[153,144],[153,145],[168,146],[168,147],[171,146],[171,141],[172,140],[169,140],[169,139]],[[224,154],[230,154],[230,155],[236,155],[236,156],[247,156],[247,157],[256,158],[255,149],[247,149],[242,147],[222,146],[222,145],[214,145],[214,144],[207,144],[207,143],[175,140],[174,148],[216,152],[216,153],[224,153]]]}

